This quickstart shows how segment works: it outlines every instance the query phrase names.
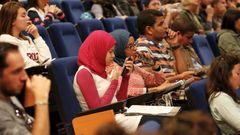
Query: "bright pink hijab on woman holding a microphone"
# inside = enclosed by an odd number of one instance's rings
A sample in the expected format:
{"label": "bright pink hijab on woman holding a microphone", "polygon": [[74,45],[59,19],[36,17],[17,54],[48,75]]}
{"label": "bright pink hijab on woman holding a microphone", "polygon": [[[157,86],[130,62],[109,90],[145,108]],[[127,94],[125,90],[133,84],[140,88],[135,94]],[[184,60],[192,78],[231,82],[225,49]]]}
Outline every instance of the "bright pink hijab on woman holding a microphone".
{"label": "bright pink hijab on woman holding a microphone", "polygon": [[89,68],[93,73],[107,78],[107,52],[116,44],[115,39],[105,31],[92,32],[82,43],[78,52],[78,64]]}

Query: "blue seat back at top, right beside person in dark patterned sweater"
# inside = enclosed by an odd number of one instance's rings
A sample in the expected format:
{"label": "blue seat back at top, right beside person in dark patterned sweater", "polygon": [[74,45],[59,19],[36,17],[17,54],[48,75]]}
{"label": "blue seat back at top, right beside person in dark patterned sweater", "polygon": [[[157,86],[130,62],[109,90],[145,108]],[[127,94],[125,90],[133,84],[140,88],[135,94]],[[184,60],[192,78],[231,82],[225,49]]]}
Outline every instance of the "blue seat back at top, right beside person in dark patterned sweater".
{"label": "blue seat back at top, right beside person in dark patterned sweater", "polygon": [[80,0],[62,0],[61,5],[67,21],[73,24],[80,20],[81,14],[85,11]]}

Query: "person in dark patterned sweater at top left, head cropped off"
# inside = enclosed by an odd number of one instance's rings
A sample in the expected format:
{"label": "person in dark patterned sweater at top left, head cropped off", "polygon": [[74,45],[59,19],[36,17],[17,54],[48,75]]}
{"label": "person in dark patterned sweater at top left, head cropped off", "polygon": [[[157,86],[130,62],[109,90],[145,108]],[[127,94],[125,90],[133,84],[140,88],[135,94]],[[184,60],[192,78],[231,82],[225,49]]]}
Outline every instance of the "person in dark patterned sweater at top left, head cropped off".
{"label": "person in dark patterned sweater at top left, head cropped off", "polygon": [[56,19],[65,21],[65,14],[56,5],[48,5],[49,0],[28,0],[27,14],[35,25],[49,27]]}

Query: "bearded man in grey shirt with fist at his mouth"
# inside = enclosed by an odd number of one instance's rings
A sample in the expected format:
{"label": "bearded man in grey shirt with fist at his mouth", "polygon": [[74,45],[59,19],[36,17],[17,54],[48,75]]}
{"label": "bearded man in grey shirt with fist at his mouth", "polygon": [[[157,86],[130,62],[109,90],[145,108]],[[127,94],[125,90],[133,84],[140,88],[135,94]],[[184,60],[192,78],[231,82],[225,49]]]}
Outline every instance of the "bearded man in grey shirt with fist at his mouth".
{"label": "bearded man in grey shirt with fist at his mouth", "polygon": [[[24,66],[17,46],[0,43],[0,134],[49,135],[50,80],[43,76],[28,78]],[[24,87],[34,95],[35,120],[15,97]]]}

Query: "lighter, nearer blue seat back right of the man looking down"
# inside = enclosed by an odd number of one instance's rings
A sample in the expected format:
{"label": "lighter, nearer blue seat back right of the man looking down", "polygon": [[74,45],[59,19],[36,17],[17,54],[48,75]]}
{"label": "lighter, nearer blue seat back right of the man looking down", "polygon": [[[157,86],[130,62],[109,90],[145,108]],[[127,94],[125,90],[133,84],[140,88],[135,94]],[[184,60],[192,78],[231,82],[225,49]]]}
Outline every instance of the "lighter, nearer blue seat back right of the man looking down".
{"label": "lighter, nearer blue seat back right of the man looking down", "polygon": [[207,39],[202,35],[193,37],[193,48],[196,51],[203,65],[211,64],[214,55],[208,44]]}

